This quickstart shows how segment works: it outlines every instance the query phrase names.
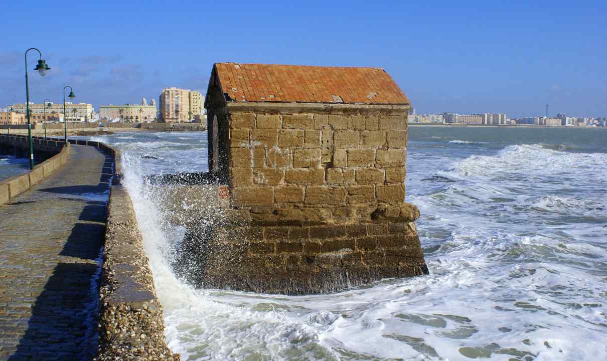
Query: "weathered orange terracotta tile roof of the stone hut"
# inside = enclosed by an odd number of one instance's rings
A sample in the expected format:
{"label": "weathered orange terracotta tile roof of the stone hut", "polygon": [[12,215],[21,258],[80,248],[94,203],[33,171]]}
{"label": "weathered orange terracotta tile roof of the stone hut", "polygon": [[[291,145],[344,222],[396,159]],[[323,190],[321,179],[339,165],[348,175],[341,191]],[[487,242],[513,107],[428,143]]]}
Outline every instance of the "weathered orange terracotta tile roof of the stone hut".
{"label": "weathered orange terracotta tile roof of the stone hut", "polygon": [[214,69],[231,101],[410,104],[381,68],[218,62]]}

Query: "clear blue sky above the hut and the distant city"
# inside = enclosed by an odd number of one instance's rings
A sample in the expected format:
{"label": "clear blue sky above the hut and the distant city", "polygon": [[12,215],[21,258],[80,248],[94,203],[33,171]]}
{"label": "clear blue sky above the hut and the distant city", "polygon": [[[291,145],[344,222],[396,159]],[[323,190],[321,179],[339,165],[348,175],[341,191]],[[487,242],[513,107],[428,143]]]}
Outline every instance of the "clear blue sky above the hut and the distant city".
{"label": "clear blue sky above the hut and the distant city", "polygon": [[[205,93],[214,62],[382,67],[418,113],[607,116],[607,1],[6,2],[0,107]],[[158,101],[158,100],[157,100]]]}

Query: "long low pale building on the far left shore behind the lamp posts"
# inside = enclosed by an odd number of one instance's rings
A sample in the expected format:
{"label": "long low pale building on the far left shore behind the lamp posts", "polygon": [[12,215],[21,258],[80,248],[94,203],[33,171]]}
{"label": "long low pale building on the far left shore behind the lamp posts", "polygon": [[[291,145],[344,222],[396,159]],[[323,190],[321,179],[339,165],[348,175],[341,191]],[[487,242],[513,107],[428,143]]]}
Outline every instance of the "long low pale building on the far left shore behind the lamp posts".
{"label": "long low pale building on the far left shore behind the lamp posts", "polygon": [[[47,121],[58,121],[58,113],[63,114],[63,103],[54,104],[30,104],[30,112],[32,112],[32,123],[38,123],[44,121],[44,108],[46,108]],[[25,113],[25,104],[13,104],[13,109],[18,113]],[[67,110],[67,121],[90,121],[95,118],[95,111],[93,106],[87,103],[74,104],[72,102],[66,102]],[[55,112],[55,113],[53,113]],[[61,116],[63,121],[63,116]]]}

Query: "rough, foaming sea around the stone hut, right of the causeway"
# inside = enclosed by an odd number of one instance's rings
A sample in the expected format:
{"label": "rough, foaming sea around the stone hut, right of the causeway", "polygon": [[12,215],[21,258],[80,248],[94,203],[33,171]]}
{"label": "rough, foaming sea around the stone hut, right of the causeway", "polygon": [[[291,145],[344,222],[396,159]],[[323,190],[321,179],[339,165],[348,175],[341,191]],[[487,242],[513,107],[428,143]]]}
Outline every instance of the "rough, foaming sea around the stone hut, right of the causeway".
{"label": "rough, foaming sea around the stone hut, right of the causeway", "polygon": [[336,294],[194,289],[149,174],[205,171],[205,132],[117,133],[183,360],[607,359],[607,133],[409,128],[406,200],[430,274]]}

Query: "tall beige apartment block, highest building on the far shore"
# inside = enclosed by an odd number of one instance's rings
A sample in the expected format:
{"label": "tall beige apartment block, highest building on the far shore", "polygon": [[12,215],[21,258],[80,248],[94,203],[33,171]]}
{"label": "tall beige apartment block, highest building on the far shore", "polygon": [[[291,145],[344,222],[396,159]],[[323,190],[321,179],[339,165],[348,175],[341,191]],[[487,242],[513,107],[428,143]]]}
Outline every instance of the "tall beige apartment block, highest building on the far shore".
{"label": "tall beige apartment block, highest building on the far shore", "polygon": [[164,123],[185,123],[202,115],[202,94],[196,90],[166,88],[158,97],[160,121]]}

